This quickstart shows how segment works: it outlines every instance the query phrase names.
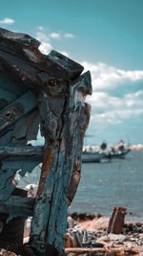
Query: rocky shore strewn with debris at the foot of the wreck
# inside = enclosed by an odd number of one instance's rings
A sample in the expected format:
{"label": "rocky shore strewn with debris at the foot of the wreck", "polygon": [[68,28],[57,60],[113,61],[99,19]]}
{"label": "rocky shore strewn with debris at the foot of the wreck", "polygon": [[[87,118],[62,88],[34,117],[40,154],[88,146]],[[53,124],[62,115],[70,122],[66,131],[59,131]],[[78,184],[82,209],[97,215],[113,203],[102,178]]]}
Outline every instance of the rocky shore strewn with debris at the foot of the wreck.
{"label": "rocky shore strewn with debris at the foot of the wreck", "polygon": [[[68,219],[67,233],[65,234],[66,255],[143,256],[143,222],[125,221],[122,234],[108,234],[109,221],[108,218],[101,215],[71,214]],[[0,255],[15,256],[16,254],[1,249]]]}

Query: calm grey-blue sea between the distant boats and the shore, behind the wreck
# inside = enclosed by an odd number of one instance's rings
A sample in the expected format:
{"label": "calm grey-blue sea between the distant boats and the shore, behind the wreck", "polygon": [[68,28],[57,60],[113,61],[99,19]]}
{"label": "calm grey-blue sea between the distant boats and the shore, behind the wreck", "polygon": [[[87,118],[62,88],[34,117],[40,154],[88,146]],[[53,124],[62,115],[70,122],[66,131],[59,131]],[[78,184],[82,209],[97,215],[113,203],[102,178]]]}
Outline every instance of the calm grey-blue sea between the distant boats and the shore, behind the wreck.
{"label": "calm grey-blue sea between the distant boats and the shore, behind the wreck", "polygon": [[[19,186],[24,187],[27,181],[35,183],[38,178],[37,172],[32,172],[20,180]],[[101,214],[110,218],[114,206],[127,209],[127,221],[143,221],[143,151],[131,151],[124,159],[82,164],[81,179],[69,213]]]}

